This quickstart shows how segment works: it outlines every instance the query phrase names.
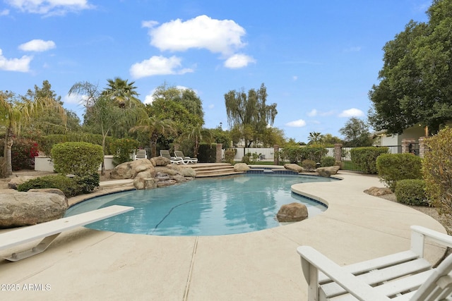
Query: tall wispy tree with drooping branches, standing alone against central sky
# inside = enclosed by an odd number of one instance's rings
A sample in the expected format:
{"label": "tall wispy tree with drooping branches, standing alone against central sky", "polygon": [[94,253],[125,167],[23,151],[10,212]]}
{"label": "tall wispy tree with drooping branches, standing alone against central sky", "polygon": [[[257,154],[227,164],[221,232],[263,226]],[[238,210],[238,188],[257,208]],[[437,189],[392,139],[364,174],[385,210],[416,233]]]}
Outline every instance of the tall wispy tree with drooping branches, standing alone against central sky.
{"label": "tall wispy tree with drooping branches, standing alone against central sky", "polygon": [[[266,128],[273,125],[276,104],[266,104],[267,89],[261,85],[259,90],[251,89],[248,94],[231,90],[225,94],[227,122],[233,140],[243,140],[246,147],[262,142]],[[235,137],[235,139],[234,139]]]}

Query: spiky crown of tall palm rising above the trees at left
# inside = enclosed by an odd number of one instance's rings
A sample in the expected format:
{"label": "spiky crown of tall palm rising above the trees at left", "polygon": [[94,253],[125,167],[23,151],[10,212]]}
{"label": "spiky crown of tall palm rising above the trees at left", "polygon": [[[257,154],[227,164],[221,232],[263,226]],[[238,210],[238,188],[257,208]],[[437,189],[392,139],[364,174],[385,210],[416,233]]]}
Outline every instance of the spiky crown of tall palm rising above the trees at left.
{"label": "spiky crown of tall palm rising above the trees at left", "polygon": [[107,88],[102,91],[102,94],[116,102],[120,108],[142,105],[137,98],[136,87],[133,86],[135,82],[128,82],[121,78],[109,79],[107,82]]}

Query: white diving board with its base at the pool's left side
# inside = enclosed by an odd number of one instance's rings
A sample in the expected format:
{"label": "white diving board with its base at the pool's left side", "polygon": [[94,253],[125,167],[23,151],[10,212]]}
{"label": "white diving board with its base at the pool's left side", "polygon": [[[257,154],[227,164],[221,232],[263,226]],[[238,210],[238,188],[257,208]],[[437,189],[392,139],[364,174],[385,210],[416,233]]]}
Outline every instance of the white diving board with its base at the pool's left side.
{"label": "white diving board with its base at the pool's left side", "polygon": [[79,226],[85,226],[88,223],[94,223],[95,221],[101,221],[102,219],[108,219],[109,217],[123,214],[124,212],[131,211],[133,209],[133,207],[113,205],[2,233],[0,234],[0,250],[44,238],[38,245],[36,245],[36,247],[33,247],[30,250],[13,253],[11,254],[11,257],[4,257],[10,262],[17,262],[20,259],[28,258],[35,254],[39,254],[40,252],[44,252],[44,250],[46,250],[54,239],[57,238],[57,236],[63,231]]}

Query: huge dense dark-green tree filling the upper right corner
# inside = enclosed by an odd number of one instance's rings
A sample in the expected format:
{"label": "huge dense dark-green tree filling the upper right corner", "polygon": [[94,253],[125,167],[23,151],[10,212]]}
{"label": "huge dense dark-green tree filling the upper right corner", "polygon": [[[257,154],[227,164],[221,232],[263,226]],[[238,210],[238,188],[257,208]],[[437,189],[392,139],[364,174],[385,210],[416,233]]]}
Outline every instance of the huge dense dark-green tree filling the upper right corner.
{"label": "huge dense dark-green tree filling the upper right corner", "polygon": [[410,21],[383,47],[379,85],[369,92],[375,130],[421,124],[436,133],[452,116],[452,0],[434,0],[428,23]]}

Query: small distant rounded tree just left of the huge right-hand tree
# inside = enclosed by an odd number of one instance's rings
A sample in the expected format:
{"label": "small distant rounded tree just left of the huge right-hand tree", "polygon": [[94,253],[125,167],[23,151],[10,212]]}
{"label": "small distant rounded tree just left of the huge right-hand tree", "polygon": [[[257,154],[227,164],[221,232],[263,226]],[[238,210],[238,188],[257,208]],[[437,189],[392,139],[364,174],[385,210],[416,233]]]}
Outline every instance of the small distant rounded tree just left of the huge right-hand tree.
{"label": "small distant rounded tree just left of the huge right-hand tree", "polygon": [[345,146],[347,147],[369,147],[372,145],[372,138],[369,133],[369,125],[359,118],[352,117],[339,133],[345,137]]}

